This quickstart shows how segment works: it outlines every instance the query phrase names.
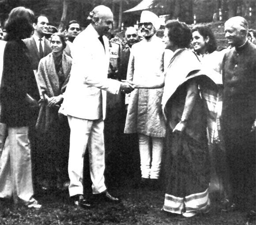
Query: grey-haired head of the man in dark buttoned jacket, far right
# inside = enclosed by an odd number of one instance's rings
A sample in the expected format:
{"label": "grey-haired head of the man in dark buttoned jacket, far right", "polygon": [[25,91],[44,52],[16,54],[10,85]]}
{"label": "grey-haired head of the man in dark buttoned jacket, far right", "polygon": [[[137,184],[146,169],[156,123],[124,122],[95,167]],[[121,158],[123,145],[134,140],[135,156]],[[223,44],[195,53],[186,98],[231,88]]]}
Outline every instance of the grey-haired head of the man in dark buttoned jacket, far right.
{"label": "grey-haired head of the man in dark buttoned jacket, far right", "polygon": [[232,47],[245,44],[248,33],[248,22],[241,16],[228,19],[225,23],[225,37]]}

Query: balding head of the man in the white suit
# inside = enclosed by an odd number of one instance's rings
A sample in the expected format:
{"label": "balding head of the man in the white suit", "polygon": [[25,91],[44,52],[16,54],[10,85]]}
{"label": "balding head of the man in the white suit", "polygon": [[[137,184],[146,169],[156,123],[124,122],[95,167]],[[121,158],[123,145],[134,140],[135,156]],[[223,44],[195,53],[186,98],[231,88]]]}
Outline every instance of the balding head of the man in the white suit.
{"label": "balding head of the man in the white suit", "polygon": [[96,6],[90,12],[89,18],[99,35],[107,35],[113,26],[113,13],[109,7],[104,5]]}

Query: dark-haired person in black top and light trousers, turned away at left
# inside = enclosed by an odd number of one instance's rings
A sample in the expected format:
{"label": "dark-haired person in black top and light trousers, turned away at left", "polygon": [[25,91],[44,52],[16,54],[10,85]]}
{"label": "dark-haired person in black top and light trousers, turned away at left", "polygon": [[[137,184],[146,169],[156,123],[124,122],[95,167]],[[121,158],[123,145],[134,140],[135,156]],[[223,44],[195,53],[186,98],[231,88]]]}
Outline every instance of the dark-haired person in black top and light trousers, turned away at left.
{"label": "dark-haired person in black top and light trousers, turned away at left", "polygon": [[11,10],[5,29],[8,41],[4,50],[4,68],[0,90],[1,122],[8,136],[1,155],[0,198],[13,197],[27,207],[40,208],[33,198],[30,142],[31,118],[38,112],[39,92],[28,50],[22,39],[31,35],[34,13],[25,7]]}

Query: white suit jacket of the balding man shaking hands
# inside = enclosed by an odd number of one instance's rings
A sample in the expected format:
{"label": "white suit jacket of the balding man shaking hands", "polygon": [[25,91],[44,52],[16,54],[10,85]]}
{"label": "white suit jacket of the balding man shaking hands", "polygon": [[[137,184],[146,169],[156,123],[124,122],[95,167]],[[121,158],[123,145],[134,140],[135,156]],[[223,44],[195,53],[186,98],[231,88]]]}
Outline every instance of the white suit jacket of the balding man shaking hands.
{"label": "white suit jacket of the balding man shaking hands", "polygon": [[107,78],[109,40],[103,36],[104,51],[98,37],[98,33],[90,24],[73,42],[71,76],[63,103],[67,115],[97,120],[101,110],[99,107],[102,107],[103,119],[105,119],[105,91],[118,94],[120,90],[119,81]]}

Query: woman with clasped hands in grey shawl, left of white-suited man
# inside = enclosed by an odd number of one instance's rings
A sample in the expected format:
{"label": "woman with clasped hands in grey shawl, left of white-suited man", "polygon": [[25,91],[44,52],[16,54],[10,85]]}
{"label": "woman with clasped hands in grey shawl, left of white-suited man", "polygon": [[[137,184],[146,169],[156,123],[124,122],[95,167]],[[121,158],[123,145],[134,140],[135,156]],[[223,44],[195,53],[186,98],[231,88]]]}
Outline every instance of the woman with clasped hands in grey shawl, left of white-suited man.
{"label": "woman with clasped hands in grey shawl, left of white-suited man", "polygon": [[[72,58],[63,53],[66,47],[65,37],[61,33],[51,36],[52,52],[42,58],[38,65],[38,82],[43,102],[40,106],[36,128],[41,132],[45,146],[45,171],[41,175],[46,188],[63,189],[64,156],[67,155],[64,142],[68,139],[68,125],[58,117],[58,110],[63,101]],[[66,137],[66,138],[64,138]],[[68,157],[68,156],[67,156]]]}

